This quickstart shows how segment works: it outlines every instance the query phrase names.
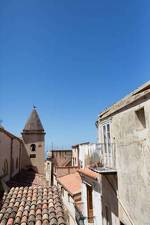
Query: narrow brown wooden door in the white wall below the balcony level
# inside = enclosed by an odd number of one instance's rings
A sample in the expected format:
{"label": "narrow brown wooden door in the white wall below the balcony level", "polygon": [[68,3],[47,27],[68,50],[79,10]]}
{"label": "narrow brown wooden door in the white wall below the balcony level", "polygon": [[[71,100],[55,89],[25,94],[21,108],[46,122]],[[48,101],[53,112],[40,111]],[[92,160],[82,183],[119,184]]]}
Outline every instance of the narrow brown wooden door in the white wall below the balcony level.
{"label": "narrow brown wooden door in the white wall below the balcony level", "polygon": [[87,211],[88,211],[88,223],[93,223],[93,198],[92,187],[87,185]]}

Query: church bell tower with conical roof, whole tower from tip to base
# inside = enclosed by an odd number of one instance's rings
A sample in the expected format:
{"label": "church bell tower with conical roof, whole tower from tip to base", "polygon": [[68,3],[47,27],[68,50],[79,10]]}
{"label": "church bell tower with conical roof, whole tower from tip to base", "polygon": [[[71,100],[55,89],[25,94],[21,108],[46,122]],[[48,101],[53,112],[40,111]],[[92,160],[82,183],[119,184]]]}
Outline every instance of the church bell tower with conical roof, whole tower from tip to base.
{"label": "church bell tower with conical roof, whole tower from tip to base", "polygon": [[40,174],[44,174],[44,137],[44,128],[34,107],[23,129],[22,138],[30,161],[30,167]]}

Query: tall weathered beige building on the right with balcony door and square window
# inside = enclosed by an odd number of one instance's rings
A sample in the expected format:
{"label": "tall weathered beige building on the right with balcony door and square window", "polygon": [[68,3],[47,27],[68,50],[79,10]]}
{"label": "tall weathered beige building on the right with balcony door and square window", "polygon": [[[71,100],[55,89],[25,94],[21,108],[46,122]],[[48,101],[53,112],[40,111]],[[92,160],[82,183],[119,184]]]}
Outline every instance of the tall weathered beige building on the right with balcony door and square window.
{"label": "tall weathered beige building on the right with balcony door and square window", "polygon": [[116,170],[121,225],[149,224],[149,114],[150,82],[102,112],[97,121],[99,142],[105,146],[103,163]]}

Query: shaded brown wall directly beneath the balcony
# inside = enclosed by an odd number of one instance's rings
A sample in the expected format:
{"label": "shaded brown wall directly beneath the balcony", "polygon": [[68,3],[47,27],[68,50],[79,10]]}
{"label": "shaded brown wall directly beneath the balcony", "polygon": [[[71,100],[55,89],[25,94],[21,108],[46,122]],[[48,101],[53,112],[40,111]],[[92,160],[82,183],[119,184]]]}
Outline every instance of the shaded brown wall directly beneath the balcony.
{"label": "shaded brown wall directly beneath the balcony", "polygon": [[106,224],[115,224],[115,221],[112,221],[112,214],[116,220],[118,218],[117,190],[117,175],[102,175],[102,217]]}

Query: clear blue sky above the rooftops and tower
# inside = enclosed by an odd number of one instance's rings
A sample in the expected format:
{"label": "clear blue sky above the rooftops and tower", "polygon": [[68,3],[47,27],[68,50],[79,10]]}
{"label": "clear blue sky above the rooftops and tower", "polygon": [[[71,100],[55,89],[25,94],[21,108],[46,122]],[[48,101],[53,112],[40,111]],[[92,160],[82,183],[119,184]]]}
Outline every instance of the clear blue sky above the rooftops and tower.
{"label": "clear blue sky above the rooftops and tower", "polygon": [[100,111],[150,78],[150,1],[0,1],[0,118],[38,107],[46,147],[96,141]]}

